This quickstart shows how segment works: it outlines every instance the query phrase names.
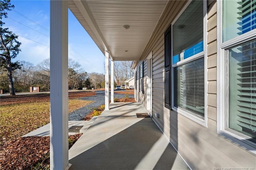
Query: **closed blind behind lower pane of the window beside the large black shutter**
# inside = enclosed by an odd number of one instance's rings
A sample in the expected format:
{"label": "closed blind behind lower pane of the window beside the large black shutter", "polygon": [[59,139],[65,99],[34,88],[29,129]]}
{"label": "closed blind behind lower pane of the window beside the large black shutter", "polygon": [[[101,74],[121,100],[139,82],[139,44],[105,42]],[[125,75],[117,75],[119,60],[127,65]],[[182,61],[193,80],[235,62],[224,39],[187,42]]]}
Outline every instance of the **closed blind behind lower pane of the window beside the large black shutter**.
{"label": "closed blind behind lower pane of the window beside the large black shutter", "polygon": [[174,105],[204,118],[204,58],[175,67],[174,76]]}

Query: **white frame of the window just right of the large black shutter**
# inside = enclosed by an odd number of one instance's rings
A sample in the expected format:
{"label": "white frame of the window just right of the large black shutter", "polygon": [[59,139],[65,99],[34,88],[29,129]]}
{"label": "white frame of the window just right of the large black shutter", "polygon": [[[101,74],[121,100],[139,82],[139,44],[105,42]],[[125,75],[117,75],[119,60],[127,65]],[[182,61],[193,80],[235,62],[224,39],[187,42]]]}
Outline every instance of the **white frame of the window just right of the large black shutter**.
{"label": "white frame of the window just right of the large black shutter", "polygon": [[[178,14],[178,16],[174,19],[171,26],[178,20],[178,18],[182,15],[182,13],[186,10],[186,8],[189,6],[189,4],[192,2],[192,0],[189,0],[187,4],[184,6],[184,8],[181,10],[181,12]],[[192,121],[199,123],[200,125],[203,125],[204,127],[208,127],[208,114],[207,114],[207,1],[204,2],[204,9],[203,9],[203,15],[204,15],[204,28],[203,28],[203,38],[204,38],[204,50],[200,53],[197,53],[191,57],[188,57],[182,61],[179,61],[178,63],[172,64],[172,110],[176,111],[177,113],[191,119]],[[171,29],[173,30],[173,29]],[[173,44],[173,31],[171,31],[171,44]],[[173,46],[171,45],[171,53],[173,57]],[[172,59],[171,57],[171,59]],[[185,109],[180,109],[174,106],[174,68],[183,65],[185,63],[188,63],[190,61],[193,61],[195,59],[199,59],[204,57],[204,119],[201,119],[193,114],[190,113],[190,111],[187,111]],[[172,61],[171,61],[172,62]]]}

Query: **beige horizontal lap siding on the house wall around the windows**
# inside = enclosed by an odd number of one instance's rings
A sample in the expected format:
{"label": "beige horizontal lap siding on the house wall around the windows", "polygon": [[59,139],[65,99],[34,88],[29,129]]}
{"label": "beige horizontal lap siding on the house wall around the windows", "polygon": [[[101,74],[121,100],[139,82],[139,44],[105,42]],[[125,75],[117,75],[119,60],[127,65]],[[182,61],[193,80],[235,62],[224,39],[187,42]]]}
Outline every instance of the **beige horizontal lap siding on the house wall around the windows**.
{"label": "beige horizontal lap siding on the house wall around the windows", "polygon": [[[192,169],[208,170],[215,168],[254,168],[256,156],[248,150],[234,144],[216,133],[216,1],[208,1],[208,40],[207,40],[207,113],[208,127],[204,127],[175,111],[164,107],[164,32],[177,16],[186,1],[169,1],[155,32],[152,34],[141,57],[145,65],[146,56],[153,54],[153,99],[152,111],[159,113],[159,118],[153,117],[170,142],[175,146]],[[140,61],[140,63],[141,63]],[[136,69],[140,68],[140,63]],[[145,66],[144,65],[144,66]],[[145,69],[146,70],[146,69]],[[145,72],[144,72],[145,73]],[[139,77],[139,71],[137,73]],[[146,79],[146,78],[144,78]],[[146,84],[144,82],[144,84]],[[138,80],[136,100],[138,101]],[[144,95],[140,93],[140,102],[146,108],[146,86]],[[143,100],[144,99],[144,100]]]}

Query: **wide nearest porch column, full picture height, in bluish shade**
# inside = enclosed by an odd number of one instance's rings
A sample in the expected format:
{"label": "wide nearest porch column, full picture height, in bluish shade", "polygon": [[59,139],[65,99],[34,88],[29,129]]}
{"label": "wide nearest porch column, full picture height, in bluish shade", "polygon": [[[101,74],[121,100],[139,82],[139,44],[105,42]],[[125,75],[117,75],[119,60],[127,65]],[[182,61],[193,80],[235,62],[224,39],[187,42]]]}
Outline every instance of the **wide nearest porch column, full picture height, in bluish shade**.
{"label": "wide nearest porch column, full picture height, in bluish shade", "polygon": [[50,169],[68,169],[68,1],[50,1]]}

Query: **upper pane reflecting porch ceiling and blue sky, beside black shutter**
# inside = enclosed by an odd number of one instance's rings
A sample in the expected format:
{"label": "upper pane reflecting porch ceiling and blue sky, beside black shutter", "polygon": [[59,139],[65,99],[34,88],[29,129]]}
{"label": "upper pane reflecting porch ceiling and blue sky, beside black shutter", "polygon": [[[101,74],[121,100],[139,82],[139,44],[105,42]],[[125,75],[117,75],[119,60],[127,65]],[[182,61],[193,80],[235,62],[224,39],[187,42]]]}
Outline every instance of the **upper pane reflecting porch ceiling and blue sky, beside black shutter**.
{"label": "upper pane reflecting porch ceiling and blue sky, beside black shutter", "polygon": [[173,24],[173,64],[204,50],[203,5],[203,1],[192,1]]}

